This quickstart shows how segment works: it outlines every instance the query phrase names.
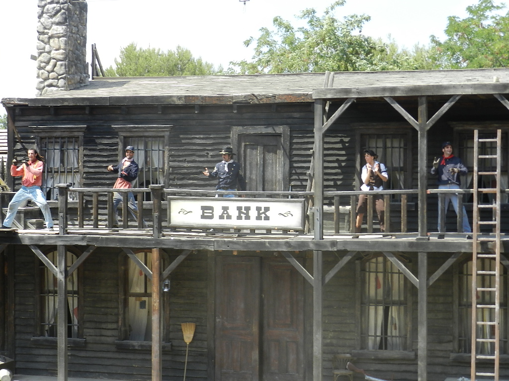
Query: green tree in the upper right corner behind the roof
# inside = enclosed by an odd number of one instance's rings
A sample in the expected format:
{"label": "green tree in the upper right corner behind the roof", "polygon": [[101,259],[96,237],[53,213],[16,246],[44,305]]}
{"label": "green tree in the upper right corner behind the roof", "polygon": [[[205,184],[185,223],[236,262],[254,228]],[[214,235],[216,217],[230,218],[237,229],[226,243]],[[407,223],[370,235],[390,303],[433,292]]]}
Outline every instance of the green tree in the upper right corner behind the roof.
{"label": "green tree in the upper right corner behind the roof", "polygon": [[509,66],[509,12],[505,5],[480,0],[466,8],[468,17],[448,18],[440,42],[431,36],[434,59],[443,69],[505,68]]}

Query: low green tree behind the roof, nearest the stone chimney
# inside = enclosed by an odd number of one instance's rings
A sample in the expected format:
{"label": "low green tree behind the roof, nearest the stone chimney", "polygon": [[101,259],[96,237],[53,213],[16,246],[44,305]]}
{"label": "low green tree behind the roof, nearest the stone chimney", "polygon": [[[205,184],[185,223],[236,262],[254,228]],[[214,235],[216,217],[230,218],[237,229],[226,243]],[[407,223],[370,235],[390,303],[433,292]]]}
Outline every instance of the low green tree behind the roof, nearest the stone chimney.
{"label": "low green tree behind the roof, nearest the stone chimney", "polygon": [[177,46],[175,51],[162,52],[155,48],[137,48],[135,43],[120,50],[120,60],[115,58],[115,66],[105,70],[107,77],[209,75],[222,71],[221,67],[216,70],[212,63],[201,57],[194,58],[188,49],[181,46]]}

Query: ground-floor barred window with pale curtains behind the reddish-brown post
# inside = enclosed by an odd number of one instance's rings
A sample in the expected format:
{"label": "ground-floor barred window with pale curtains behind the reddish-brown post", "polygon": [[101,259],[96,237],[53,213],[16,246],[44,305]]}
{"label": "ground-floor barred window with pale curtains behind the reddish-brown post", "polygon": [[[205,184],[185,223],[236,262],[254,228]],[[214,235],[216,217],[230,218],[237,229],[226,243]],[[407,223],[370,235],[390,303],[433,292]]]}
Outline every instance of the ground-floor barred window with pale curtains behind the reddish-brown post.
{"label": "ground-floor barred window with pale curtains behind the reddish-brown post", "polygon": [[[151,251],[142,250],[135,254],[140,262],[152,269]],[[129,257],[126,256],[125,261],[120,340],[152,341],[152,280]],[[164,292],[161,298],[162,321],[165,322],[162,327],[163,342],[168,341],[168,298],[168,293]]]}

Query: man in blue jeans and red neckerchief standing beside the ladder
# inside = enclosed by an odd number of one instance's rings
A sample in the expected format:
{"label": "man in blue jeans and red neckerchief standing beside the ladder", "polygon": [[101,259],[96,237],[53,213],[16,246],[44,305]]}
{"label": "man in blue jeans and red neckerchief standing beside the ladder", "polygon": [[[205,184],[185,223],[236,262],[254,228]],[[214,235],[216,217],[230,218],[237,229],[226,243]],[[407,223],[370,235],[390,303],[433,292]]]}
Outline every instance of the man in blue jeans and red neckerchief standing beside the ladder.
{"label": "man in blue jeans and red neckerchief standing beside the ladder", "polygon": [[[457,156],[453,155],[453,144],[451,142],[442,143],[442,157],[435,157],[433,161],[433,168],[431,169],[432,175],[437,175],[438,189],[459,189],[460,188],[460,176],[466,175],[468,170]],[[445,195],[445,208],[438,206],[438,232],[442,233],[438,235],[439,239],[444,238],[443,233],[445,232],[445,226],[440,227],[440,220],[442,213],[447,213],[449,201],[453,203],[454,210],[458,215],[458,195],[457,194],[446,194]],[[472,233],[470,224],[468,223],[467,212],[463,207],[463,232],[467,233],[467,238],[471,238],[469,233]]]}

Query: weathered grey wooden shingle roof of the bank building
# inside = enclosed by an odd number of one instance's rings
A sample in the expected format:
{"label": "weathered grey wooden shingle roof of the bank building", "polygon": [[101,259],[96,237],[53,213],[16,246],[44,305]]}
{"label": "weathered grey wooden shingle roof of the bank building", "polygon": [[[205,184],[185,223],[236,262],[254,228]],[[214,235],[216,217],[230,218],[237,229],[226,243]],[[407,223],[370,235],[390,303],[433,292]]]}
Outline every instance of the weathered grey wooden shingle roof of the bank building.
{"label": "weathered grey wooden shingle roof of the bank building", "polygon": [[[498,82],[494,81],[495,77]],[[312,102],[313,98],[334,97],[415,96],[436,89],[440,90],[437,93],[509,92],[504,91],[509,83],[509,69],[335,72],[328,90],[314,92],[324,88],[326,78],[326,73],[97,78],[77,89],[49,91],[34,99],[17,101],[31,106],[231,104]]]}

